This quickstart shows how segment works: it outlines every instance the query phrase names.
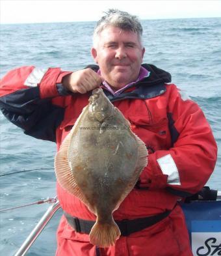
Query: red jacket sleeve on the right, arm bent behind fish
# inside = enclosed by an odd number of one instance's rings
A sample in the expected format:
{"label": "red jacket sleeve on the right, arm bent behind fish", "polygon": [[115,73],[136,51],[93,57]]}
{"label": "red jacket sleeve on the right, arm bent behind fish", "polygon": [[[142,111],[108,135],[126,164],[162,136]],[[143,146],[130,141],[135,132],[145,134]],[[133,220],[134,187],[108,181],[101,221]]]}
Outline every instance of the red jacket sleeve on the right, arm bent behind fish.
{"label": "red jacket sleeve on the right, arm bent behind fish", "polygon": [[167,112],[172,117],[173,145],[149,155],[140,182],[148,184],[150,190],[166,188],[186,197],[199,192],[209,179],[216,164],[217,147],[200,107],[175,85],[168,87]]}

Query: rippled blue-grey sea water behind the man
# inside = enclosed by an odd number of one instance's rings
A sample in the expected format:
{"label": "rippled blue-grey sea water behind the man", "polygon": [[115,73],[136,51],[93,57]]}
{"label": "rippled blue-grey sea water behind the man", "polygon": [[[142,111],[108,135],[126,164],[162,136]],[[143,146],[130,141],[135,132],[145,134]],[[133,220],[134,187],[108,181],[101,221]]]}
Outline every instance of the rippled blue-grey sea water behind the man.
{"label": "rippled blue-grey sea water behind the man", "polygon": [[[198,103],[211,124],[219,150],[206,185],[221,190],[221,18],[141,22],[144,63],[170,72],[172,82]],[[90,48],[95,25],[94,21],[2,24],[0,77],[19,66],[75,71],[94,64]],[[55,143],[23,134],[2,114],[0,122],[0,210],[55,197]],[[195,171],[200,175],[200,169]],[[0,254],[14,255],[49,206],[44,203],[0,212]],[[55,254],[61,214],[61,210],[55,214],[27,255]]]}

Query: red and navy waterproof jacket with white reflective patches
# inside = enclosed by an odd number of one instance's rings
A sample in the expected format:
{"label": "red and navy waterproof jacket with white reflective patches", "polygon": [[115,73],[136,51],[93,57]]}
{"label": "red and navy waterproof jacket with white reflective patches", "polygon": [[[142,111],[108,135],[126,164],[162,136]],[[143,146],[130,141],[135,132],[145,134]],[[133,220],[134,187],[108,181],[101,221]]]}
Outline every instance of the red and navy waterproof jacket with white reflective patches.
{"label": "red and navy waterproof jacket with white reflective patches", "polygon": [[[153,65],[144,67],[151,72],[149,78],[120,96],[114,97],[104,89],[149,150],[148,166],[114,212],[115,220],[172,210],[177,199],[196,193],[205,185],[216,162],[216,143],[200,107],[175,85],[167,84],[170,74]],[[62,87],[62,77],[69,73],[34,66],[12,70],[1,80],[3,114],[26,134],[56,141],[59,149],[90,96],[73,94]],[[69,214],[96,220],[79,199],[59,184],[57,194]]]}

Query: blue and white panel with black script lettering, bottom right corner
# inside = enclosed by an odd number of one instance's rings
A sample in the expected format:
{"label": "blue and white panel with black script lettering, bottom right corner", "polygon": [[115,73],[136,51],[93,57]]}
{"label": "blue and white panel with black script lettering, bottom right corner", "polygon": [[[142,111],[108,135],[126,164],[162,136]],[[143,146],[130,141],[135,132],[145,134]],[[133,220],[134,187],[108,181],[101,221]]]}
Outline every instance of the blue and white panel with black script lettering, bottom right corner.
{"label": "blue and white panel with black script lettering, bottom right corner", "polygon": [[221,255],[221,201],[192,201],[181,207],[193,255]]}

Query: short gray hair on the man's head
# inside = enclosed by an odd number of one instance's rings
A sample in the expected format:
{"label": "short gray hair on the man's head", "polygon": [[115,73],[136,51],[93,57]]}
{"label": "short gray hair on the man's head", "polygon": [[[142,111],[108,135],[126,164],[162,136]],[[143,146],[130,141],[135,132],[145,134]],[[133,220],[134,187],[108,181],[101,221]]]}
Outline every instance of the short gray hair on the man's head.
{"label": "short gray hair on the man's head", "polygon": [[128,12],[123,12],[118,9],[109,9],[105,12],[105,16],[101,17],[98,21],[93,35],[94,46],[98,35],[109,26],[119,27],[124,31],[133,31],[138,35],[140,43],[142,43],[142,25],[136,16],[129,14]]}

